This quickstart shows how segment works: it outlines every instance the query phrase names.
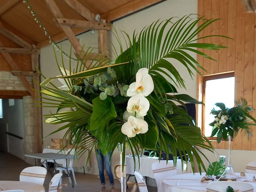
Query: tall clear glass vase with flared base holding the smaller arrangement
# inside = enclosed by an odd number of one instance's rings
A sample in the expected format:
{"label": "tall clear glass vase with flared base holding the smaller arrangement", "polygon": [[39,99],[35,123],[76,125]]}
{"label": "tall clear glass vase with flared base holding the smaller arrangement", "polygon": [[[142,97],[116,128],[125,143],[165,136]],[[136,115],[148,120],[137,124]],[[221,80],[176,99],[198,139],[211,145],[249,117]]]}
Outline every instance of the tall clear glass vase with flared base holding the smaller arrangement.
{"label": "tall clear glass vase with flared base holding the smaller arrangement", "polygon": [[218,181],[229,180],[229,179],[236,181],[238,179],[238,177],[234,173],[234,170],[231,166],[230,143],[231,143],[231,136],[229,135],[228,136],[228,165],[224,170],[223,174],[218,179]]}

